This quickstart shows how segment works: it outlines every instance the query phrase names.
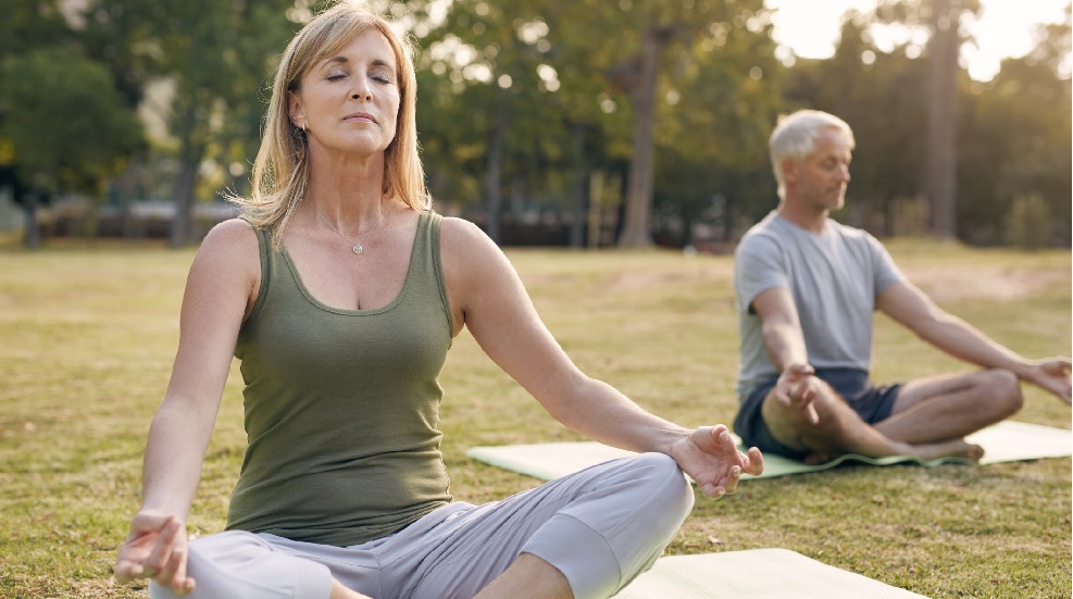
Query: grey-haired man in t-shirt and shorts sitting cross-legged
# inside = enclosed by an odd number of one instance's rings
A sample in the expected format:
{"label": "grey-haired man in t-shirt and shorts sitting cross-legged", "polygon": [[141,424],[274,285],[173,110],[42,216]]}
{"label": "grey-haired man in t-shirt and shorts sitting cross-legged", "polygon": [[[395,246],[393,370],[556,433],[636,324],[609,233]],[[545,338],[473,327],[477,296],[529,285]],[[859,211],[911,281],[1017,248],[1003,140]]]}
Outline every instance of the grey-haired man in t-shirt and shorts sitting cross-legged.
{"label": "grey-haired man in t-shirt and shorts sitting cross-legged", "polygon": [[[741,239],[734,286],[747,445],[812,463],[840,453],[980,459],[964,436],[1021,408],[1020,382],[1070,403],[1070,361],[1031,361],[936,307],[868,233],[828,217],[845,201],[853,134],[818,111],[770,140],[779,203]],[[872,315],[984,370],[875,387]]]}

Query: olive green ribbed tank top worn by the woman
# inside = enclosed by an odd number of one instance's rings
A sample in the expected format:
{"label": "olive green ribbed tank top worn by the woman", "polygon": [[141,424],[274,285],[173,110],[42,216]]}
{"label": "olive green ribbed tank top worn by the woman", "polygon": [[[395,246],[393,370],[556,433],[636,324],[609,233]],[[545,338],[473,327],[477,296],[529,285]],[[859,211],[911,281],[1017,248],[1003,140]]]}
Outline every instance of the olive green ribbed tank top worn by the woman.
{"label": "olive green ribbed tank top worn by the woman", "polygon": [[[339,310],[258,232],[261,289],[238,335],[248,447],[227,528],[347,547],[451,501],[438,376],[451,346],[440,217],[421,214],[402,290]],[[360,258],[354,258],[360,260]]]}

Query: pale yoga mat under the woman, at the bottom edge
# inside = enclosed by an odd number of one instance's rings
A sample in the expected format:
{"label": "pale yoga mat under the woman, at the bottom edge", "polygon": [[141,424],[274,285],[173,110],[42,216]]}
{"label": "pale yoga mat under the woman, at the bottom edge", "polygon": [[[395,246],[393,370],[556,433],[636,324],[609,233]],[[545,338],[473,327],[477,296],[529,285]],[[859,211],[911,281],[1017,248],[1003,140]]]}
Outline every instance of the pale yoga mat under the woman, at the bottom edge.
{"label": "pale yoga mat under the woman, at the bottom edge", "polygon": [[751,549],[660,558],[615,599],[927,599],[806,558]]}

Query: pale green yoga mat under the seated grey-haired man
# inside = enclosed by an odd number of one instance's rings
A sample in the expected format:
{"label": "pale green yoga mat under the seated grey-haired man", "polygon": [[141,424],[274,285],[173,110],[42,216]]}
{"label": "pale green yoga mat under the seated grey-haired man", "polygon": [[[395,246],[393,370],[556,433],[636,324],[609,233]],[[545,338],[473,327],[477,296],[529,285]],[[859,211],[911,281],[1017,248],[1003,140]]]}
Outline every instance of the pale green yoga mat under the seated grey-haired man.
{"label": "pale green yoga mat under the seated grey-haired man", "polygon": [[[740,439],[735,437],[735,440],[739,441],[740,445]],[[1070,430],[1023,422],[1003,421],[970,435],[966,440],[984,448],[984,458],[980,461],[982,464],[1064,458],[1073,454],[1073,434]],[[632,456],[633,452],[595,441],[577,441],[473,447],[465,454],[486,464],[544,481],[551,481],[608,460]],[[973,463],[971,460],[960,458],[921,460],[909,456],[865,458],[864,456],[846,454],[824,464],[809,465],[781,456],[765,454],[764,473],[758,477],[744,475],[741,479],[774,478],[790,474],[820,472],[846,462],[878,466],[904,463],[924,466],[936,466],[943,463]]]}

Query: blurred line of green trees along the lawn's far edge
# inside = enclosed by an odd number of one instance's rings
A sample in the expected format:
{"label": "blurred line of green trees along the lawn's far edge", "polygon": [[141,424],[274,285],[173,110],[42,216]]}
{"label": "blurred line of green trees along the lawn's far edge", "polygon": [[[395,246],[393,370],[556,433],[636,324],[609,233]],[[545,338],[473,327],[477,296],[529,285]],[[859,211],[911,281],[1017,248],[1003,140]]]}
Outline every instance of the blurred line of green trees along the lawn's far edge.
{"label": "blurred line of green trees along the lawn's far edge", "polygon": [[[816,108],[857,134],[836,217],[881,236],[1070,245],[1069,8],[980,82],[958,62],[978,0],[848,12],[822,60],[779,48],[764,0],[370,4],[415,41],[438,209],[498,242],[728,250],[776,204],[777,115]],[[152,234],[196,241],[228,214],[199,210],[248,191],[273,67],[323,5],[3,0],[0,197],[82,197],[120,215],[102,234],[127,236],[148,230],[136,208],[163,207]]]}

